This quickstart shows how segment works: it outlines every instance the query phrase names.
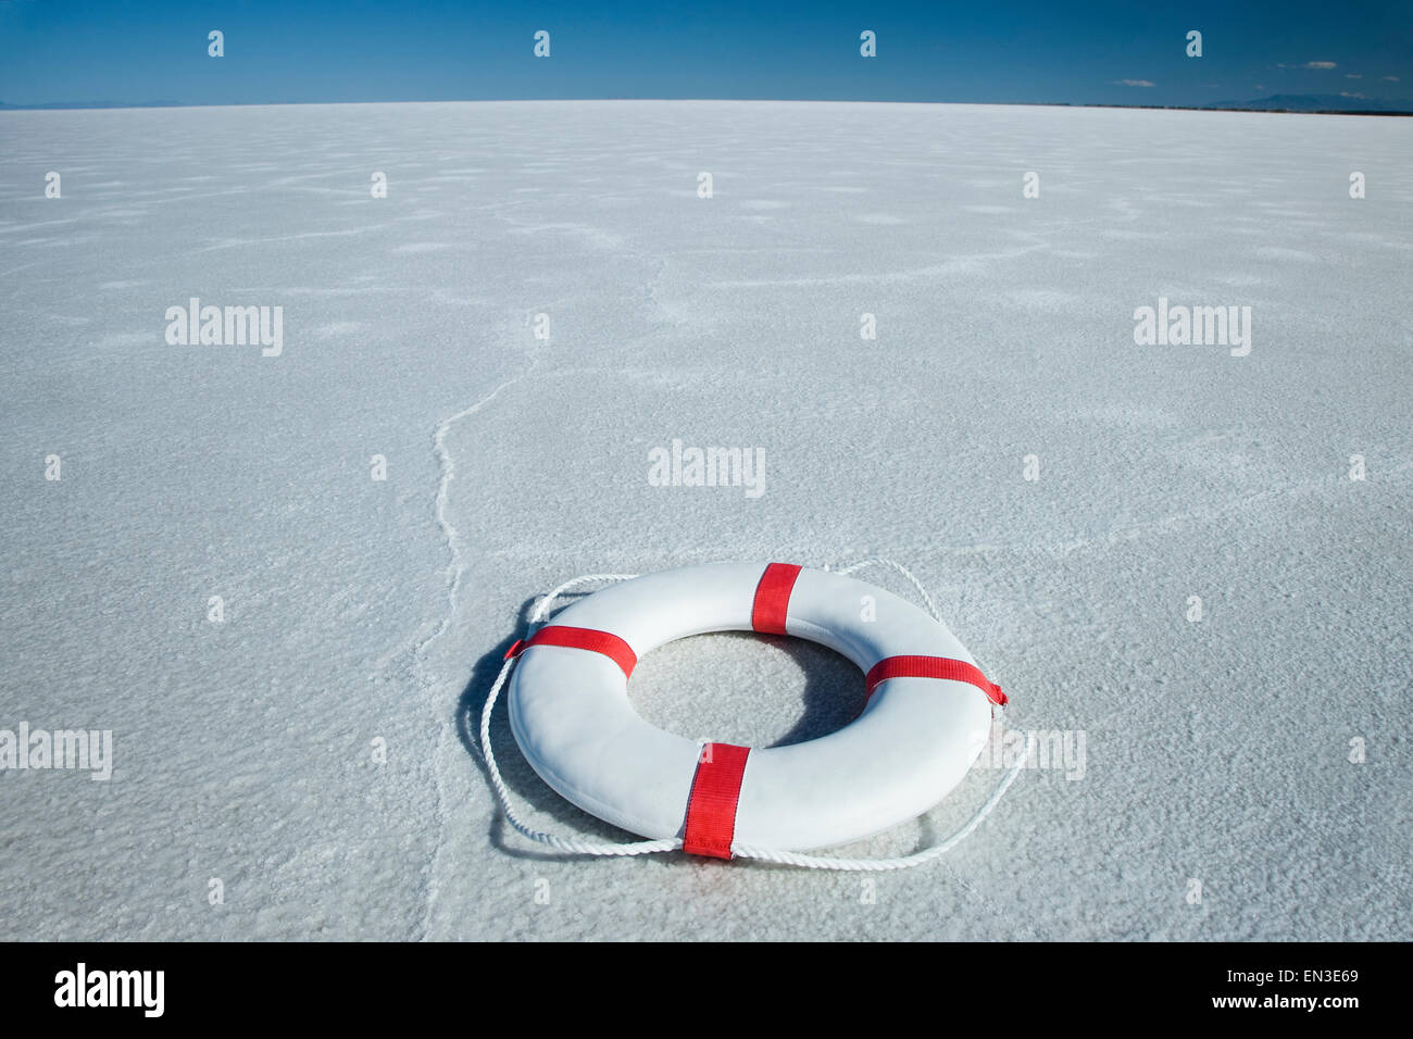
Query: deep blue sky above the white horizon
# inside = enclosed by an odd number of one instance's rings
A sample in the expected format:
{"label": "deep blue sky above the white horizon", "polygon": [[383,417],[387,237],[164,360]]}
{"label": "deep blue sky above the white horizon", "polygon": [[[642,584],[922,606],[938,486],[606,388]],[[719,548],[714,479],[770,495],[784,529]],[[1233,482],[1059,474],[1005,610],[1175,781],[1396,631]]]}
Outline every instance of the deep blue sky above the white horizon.
{"label": "deep blue sky above the white horizon", "polygon": [[[225,33],[223,58],[206,34]],[[551,57],[531,54],[536,30]],[[859,33],[877,57],[859,57]],[[1188,30],[1204,57],[1184,54]],[[1413,96],[1376,3],[0,0],[0,102],[786,98],[1202,105]]]}

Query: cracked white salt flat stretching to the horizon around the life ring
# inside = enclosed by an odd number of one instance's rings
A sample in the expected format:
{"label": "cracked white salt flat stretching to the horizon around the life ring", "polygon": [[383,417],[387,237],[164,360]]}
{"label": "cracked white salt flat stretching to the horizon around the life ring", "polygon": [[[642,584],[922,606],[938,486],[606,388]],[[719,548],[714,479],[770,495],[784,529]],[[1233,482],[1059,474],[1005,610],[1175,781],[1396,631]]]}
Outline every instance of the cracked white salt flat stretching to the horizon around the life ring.
{"label": "cracked white salt flat stretching to the horizon around the life ring", "polygon": [[[114,741],[110,782],[0,775],[0,937],[1413,937],[1410,154],[1053,107],[0,115],[0,728]],[[189,297],[281,305],[281,356],[168,345]],[[1251,353],[1135,345],[1159,297],[1249,305]],[[763,448],[763,493],[650,485],[673,438]],[[461,714],[533,595],[873,553],[1082,777],[872,889],[495,821]],[[757,745],[862,690],[739,635],[632,684]],[[537,824],[623,838],[495,736]]]}

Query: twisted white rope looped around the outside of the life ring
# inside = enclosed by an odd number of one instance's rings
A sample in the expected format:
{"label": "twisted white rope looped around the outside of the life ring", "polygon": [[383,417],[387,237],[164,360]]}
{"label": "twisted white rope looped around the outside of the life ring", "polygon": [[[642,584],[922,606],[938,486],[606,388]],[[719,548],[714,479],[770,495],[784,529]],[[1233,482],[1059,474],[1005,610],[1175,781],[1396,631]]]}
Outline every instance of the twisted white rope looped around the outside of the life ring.
{"label": "twisted white rope looped around the outside of the life ring", "polygon": [[[941,614],[937,609],[937,604],[933,601],[933,597],[927,594],[927,589],[923,587],[921,581],[918,581],[913,575],[913,573],[900,563],[894,563],[893,560],[877,556],[870,556],[869,558],[858,560],[856,563],[851,563],[846,567],[841,567],[834,573],[846,575],[855,573],[856,570],[862,570],[863,567],[868,565],[892,567],[899,574],[906,577],[923,597],[923,601],[927,604],[927,612],[933,615],[933,619],[935,621],[942,619]],[[828,570],[828,567],[825,568]],[[634,577],[637,577],[637,574],[585,574],[582,577],[575,577],[569,581],[565,581],[558,588],[545,595],[540,601],[540,604],[531,611],[530,626],[526,629],[524,639],[528,639],[531,635],[534,635],[536,628],[538,628],[538,625],[550,616],[550,609],[554,605],[554,601],[564,592],[569,591],[571,588],[578,588],[579,585],[584,584],[593,584],[601,581],[602,582],[632,581]],[[504,811],[506,821],[510,824],[510,827],[521,837],[536,841],[537,844],[547,844],[551,848],[574,855],[650,855],[658,851],[680,850],[682,847],[682,840],[680,837],[667,837],[656,841],[632,841],[626,844],[603,844],[598,841],[584,841],[577,837],[558,837],[555,834],[548,834],[541,830],[533,830],[520,820],[520,817],[516,814],[514,807],[512,807],[510,804],[510,790],[506,786],[506,782],[500,777],[500,766],[496,765],[496,755],[490,749],[490,712],[496,705],[496,700],[500,698],[500,690],[504,687],[506,679],[510,677],[510,671],[516,666],[516,660],[519,659],[520,659],[519,654],[506,659],[506,663],[500,669],[500,674],[496,676],[496,681],[490,687],[490,693],[486,695],[485,705],[480,708],[480,752],[486,759],[486,772],[490,775],[490,785],[496,790],[496,797],[500,800],[500,809],[502,811]],[[1000,711],[999,717],[1002,725],[1009,729],[1010,727],[1005,717],[1005,708],[996,708],[996,710]],[[762,848],[753,844],[750,845],[733,844],[732,854],[738,858],[752,858],[752,859],[760,859],[763,862],[779,862],[781,865],[803,867],[805,869],[844,869],[852,872],[907,869],[910,867],[930,862],[934,858],[945,855],[954,847],[961,844],[964,840],[966,840],[966,837],[971,834],[972,830],[975,830],[978,826],[982,824],[986,816],[989,816],[992,810],[996,807],[996,804],[1000,803],[1000,799],[1005,796],[1006,790],[1010,789],[1010,785],[1016,782],[1016,776],[1020,775],[1020,770],[1026,766],[1026,762],[1030,761],[1030,755],[1034,752],[1034,745],[1036,745],[1034,735],[1026,734],[1024,753],[1022,753],[1020,758],[1015,762],[1015,765],[1012,765],[1006,770],[1006,775],[1002,776],[1000,782],[996,785],[996,789],[992,790],[991,797],[986,799],[986,803],[982,804],[976,810],[976,813],[969,820],[966,820],[966,823],[964,823],[959,828],[954,830],[945,838],[942,838],[941,841],[928,848],[916,851],[911,855],[903,855],[899,858],[836,858],[834,855],[803,855],[794,851]]]}

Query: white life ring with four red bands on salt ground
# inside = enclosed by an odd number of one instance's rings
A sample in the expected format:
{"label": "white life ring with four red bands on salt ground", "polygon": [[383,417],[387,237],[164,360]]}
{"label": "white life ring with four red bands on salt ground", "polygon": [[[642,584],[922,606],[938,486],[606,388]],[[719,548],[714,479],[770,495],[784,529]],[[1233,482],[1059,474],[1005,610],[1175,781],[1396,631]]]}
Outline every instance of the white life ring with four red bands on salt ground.
{"label": "white life ring with four red bands on salt ground", "polygon": [[[639,657],[726,630],[841,653],[866,676],[863,712],[818,739],[769,748],[699,744],[639,717],[627,697]],[[846,844],[927,811],[966,775],[992,705],[1006,703],[947,626],[913,604],[783,563],[691,565],[605,588],[506,657],[519,657],[510,727],[545,783],[623,830],[677,837],[715,858],[738,844]]]}

